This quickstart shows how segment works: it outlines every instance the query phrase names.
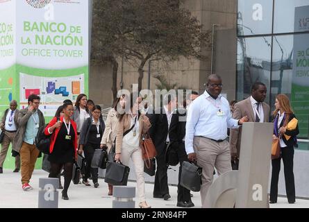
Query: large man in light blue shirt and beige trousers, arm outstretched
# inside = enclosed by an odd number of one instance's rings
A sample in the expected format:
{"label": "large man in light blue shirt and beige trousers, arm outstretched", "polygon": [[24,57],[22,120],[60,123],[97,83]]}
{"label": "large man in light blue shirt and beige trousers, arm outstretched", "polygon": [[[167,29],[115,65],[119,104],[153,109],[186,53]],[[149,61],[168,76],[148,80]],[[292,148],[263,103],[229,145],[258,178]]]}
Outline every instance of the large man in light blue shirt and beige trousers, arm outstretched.
{"label": "large man in light blue shirt and beige trousers, arm outstretched", "polygon": [[233,119],[228,101],[220,94],[222,79],[216,74],[208,77],[207,89],[195,99],[188,110],[185,151],[191,162],[203,168],[201,202],[205,207],[208,188],[212,184],[214,167],[220,174],[231,171],[231,152],[227,128],[237,128],[247,117]]}

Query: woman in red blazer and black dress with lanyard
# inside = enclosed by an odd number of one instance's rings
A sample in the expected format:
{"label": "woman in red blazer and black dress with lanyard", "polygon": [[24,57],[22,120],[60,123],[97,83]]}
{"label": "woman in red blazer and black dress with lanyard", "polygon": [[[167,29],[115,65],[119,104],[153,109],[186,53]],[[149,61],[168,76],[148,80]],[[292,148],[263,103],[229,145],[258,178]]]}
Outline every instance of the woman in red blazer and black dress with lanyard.
{"label": "woman in red blazer and black dress with lanyard", "polygon": [[57,178],[62,167],[65,169],[65,187],[62,190],[62,199],[69,200],[67,189],[72,180],[73,164],[76,160],[77,130],[76,123],[70,118],[74,107],[70,103],[63,105],[64,116],[53,117],[45,128],[45,135],[51,135],[48,160],[51,162],[49,178]]}

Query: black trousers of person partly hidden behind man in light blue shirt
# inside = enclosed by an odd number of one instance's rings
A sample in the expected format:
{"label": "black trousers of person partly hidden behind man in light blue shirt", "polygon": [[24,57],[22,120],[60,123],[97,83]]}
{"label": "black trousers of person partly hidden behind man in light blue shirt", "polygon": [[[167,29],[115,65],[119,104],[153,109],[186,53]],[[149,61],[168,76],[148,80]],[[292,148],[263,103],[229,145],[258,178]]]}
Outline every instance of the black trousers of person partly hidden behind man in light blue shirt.
{"label": "black trousers of person partly hidden behind man in light blue shirt", "polygon": [[179,173],[178,173],[178,190],[177,190],[177,201],[191,202],[190,190],[181,186],[181,171],[183,169],[183,161],[189,161],[187,159],[187,153],[185,153],[185,143],[181,142],[177,148],[177,154],[179,159]]}

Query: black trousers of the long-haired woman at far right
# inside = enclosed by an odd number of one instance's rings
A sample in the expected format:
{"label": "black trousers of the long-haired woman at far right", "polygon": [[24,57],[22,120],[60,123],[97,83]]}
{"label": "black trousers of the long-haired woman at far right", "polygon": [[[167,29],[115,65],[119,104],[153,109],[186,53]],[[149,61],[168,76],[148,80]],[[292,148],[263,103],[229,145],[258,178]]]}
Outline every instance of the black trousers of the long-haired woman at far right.
{"label": "black trousers of the long-haired woman at far right", "polygon": [[284,164],[284,177],[285,177],[285,190],[287,193],[287,200],[289,202],[295,201],[295,184],[294,184],[294,173],[293,173],[293,157],[294,147],[287,146],[281,148],[281,156],[272,160],[272,182],[270,185],[270,197],[269,200],[277,201],[278,196],[278,180],[279,172],[281,167],[281,158]]}

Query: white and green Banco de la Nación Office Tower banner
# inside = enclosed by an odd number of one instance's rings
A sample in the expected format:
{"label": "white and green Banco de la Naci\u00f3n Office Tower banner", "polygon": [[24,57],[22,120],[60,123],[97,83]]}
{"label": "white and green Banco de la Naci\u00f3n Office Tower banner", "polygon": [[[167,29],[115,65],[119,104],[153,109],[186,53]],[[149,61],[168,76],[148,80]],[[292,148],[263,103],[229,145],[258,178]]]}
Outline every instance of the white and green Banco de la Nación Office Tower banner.
{"label": "white and green Banco de la Naci\u00f3n Office Tower banner", "polygon": [[[49,121],[62,101],[88,94],[88,8],[87,0],[0,0],[0,117],[13,99],[23,109],[37,94]],[[10,150],[3,167],[15,167]]]}

